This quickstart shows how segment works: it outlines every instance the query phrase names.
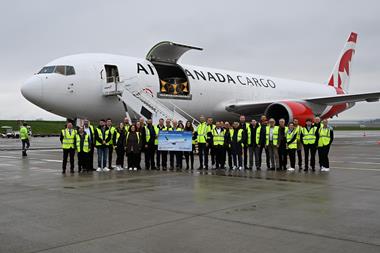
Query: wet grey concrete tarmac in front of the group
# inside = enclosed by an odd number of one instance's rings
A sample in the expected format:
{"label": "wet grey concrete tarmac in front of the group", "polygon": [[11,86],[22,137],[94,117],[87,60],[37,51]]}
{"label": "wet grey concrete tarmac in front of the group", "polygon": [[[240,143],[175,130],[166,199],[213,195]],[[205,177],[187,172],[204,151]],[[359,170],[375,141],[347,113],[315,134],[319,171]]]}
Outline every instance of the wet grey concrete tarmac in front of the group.
{"label": "wet grey concrete tarmac in front of the group", "polygon": [[380,132],[336,136],[329,173],[62,175],[57,138],[0,139],[0,252],[380,252]]}

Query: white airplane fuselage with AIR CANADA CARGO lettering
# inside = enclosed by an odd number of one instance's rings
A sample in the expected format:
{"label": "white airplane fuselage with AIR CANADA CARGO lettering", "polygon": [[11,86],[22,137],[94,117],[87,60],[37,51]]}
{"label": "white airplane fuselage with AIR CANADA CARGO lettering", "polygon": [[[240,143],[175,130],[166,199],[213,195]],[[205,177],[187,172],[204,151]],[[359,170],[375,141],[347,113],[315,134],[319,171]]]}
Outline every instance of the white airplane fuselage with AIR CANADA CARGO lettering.
{"label": "white airplane fuselage with AIR CANADA CARGO lettering", "polygon": [[[121,120],[125,116],[122,102],[117,96],[103,95],[103,87],[107,85],[103,76],[105,64],[118,67],[121,83],[130,82],[139,89],[149,89],[153,96],[160,92],[157,70],[150,61],[110,54],[79,54],[47,64],[73,66],[75,75],[36,74],[24,84],[22,93],[34,104],[66,118]],[[160,102],[166,105],[174,103],[195,118],[200,115],[224,120],[236,118],[237,115],[226,111],[225,107],[242,101],[267,102],[336,95],[334,87],[324,84],[179,65],[188,76],[191,99],[162,98]],[[319,113],[323,110],[320,108]]]}

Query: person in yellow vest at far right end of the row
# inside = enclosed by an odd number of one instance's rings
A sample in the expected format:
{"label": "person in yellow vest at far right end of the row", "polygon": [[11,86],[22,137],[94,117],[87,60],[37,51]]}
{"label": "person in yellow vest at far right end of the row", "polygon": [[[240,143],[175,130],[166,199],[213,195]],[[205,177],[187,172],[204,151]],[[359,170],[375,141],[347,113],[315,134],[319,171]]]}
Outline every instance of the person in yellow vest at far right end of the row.
{"label": "person in yellow vest at far right end of the row", "polygon": [[318,156],[321,171],[330,171],[329,164],[329,151],[331,143],[334,140],[334,131],[328,125],[327,119],[322,121],[321,128],[319,128],[318,139]]}

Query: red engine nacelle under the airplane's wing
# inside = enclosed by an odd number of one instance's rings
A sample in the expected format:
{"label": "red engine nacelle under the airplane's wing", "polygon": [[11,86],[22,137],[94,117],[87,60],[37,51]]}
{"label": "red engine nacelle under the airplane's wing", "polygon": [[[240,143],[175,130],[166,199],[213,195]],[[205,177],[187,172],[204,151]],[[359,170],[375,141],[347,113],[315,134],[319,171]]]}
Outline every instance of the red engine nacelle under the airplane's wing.
{"label": "red engine nacelle under the airplane's wing", "polygon": [[299,102],[283,101],[273,103],[265,110],[268,118],[274,118],[276,122],[284,118],[286,123],[298,119],[299,124],[304,126],[306,119],[314,119],[314,113],[311,108]]}

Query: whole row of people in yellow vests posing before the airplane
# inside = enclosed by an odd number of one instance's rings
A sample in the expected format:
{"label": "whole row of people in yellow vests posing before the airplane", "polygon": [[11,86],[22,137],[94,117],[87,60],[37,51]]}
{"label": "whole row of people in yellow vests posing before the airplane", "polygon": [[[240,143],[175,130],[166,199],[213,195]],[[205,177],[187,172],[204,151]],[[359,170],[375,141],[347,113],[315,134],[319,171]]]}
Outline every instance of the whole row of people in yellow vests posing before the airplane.
{"label": "whole row of people in yellow vests posing before the airplane", "polygon": [[[192,132],[192,150],[165,151],[158,150],[158,136],[161,131]],[[143,118],[134,124],[125,118],[117,127],[112,120],[100,120],[97,127],[84,120],[83,126],[74,129],[68,122],[61,131],[60,140],[63,149],[62,173],[66,173],[67,160],[70,157],[70,172],[74,173],[74,156],[78,156],[78,171],[140,170],[141,153],[145,156],[146,170],[182,170],[185,158],[186,170],[194,169],[196,148],[200,166],[198,170],[208,170],[209,158],[211,169],[261,170],[262,153],[266,154],[267,170],[289,170],[296,168],[315,171],[315,156],[318,151],[321,171],[329,171],[328,153],[334,139],[332,128],[327,119],[321,122],[319,117],[307,119],[304,127],[297,119],[285,124],[280,119],[278,125],[271,118],[261,116],[260,121],[246,122],[244,115],[239,122],[218,121],[200,117],[196,129],[190,121],[160,119],[157,125],[151,119]],[[97,169],[93,167],[94,152],[97,151]],[[304,152],[302,152],[302,150]],[[112,157],[116,151],[116,167],[112,167]],[[302,156],[304,154],[304,159]],[[124,166],[125,156],[128,159]],[[169,156],[169,164],[168,164]],[[288,164],[288,158],[290,165]],[[255,162],[255,163],[254,163]]]}

